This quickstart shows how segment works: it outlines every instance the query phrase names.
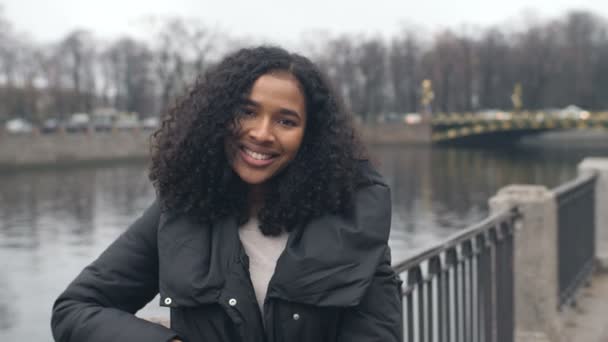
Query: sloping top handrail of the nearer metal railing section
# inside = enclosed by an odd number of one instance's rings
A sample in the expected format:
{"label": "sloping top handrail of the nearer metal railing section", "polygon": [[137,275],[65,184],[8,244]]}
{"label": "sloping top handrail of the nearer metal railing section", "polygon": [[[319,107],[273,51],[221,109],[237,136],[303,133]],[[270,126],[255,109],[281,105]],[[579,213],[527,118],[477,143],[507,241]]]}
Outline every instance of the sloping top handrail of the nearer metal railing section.
{"label": "sloping top handrail of the nearer metal railing section", "polygon": [[413,266],[419,265],[425,260],[430,259],[431,257],[438,255],[444,251],[447,251],[450,248],[454,248],[459,245],[461,242],[470,240],[474,238],[479,233],[489,229],[490,227],[496,226],[497,222],[503,222],[509,218],[515,218],[519,216],[519,212],[516,206],[512,206],[508,209],[496,212],[482,221],[473,224],[472,226],[454,233],[442,241],[423,249],[422,251],[416,253],[414,256],[407,258],[406,260],[400,261],[393,265],[393,270],[397,274],[407,271]]}

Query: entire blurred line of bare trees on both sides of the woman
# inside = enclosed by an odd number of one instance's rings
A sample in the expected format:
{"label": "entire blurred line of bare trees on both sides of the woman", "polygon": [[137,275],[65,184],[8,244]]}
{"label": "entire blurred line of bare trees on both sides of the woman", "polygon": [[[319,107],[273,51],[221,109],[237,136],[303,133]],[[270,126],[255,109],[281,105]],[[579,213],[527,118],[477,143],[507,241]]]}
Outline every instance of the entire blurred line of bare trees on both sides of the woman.
{"label": "entire blurred line of bare trees on both sides of the woman", "polygon": [[[157,115],[196,75],[244,45],[182,19],[151,25],[150,38],[102,41],[74,31],[40,44],[0,16],[0,121],[39,122],[99,107]],[[608,108],[608,23],[585,11],[526,27],[432,37],[414,30],[391,38],[319,36],[300,50],[325,69],[364,121],[419,111],[424,79],[432,81],[435,112],[509,109],[516,83],[527,109]]]}

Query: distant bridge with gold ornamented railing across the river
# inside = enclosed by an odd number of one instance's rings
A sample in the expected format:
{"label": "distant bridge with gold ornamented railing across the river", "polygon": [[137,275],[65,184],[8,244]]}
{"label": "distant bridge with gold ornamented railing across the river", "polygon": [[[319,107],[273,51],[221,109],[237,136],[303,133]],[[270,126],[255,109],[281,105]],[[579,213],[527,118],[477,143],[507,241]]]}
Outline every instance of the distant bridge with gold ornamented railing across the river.
{"label": "distant bridge with gold ornamented railing across the river", "polygon": [[466,114],[437,114],[430,121],[431,142],[435,144],[508,144],[523,136],[568,129],[608,132],[608,112],[560,117],[545,112],[498,112],[493,117]]}

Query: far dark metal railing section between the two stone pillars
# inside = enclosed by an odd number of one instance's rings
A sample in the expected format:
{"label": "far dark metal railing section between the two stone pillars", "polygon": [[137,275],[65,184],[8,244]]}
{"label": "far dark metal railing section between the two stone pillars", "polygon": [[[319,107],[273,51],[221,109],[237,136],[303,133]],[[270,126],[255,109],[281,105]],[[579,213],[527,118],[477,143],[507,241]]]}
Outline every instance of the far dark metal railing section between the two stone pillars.
{"label": "far dark metal railing section between the two stone pillars", "polygon": [[557,203],[559,308],[589,282],[595,258],[595,174],[553,189]]}

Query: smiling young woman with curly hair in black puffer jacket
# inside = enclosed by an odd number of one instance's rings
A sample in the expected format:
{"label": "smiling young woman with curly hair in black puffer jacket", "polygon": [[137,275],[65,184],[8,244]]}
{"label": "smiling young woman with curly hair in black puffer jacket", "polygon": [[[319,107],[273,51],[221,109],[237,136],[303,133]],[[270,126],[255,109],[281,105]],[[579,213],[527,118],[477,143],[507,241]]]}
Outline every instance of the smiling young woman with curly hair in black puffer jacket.
{"label": "smiling young woman with curly hair in black puffer jacket", "polygon": [[[401,341],[389,189],[308,59],[229,55],[153,140],[158,200],[57,299],[57,341]],[[157,293],[170,328],[134,316]]]}

